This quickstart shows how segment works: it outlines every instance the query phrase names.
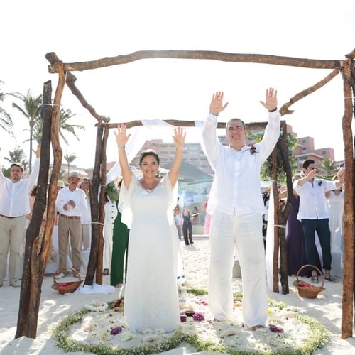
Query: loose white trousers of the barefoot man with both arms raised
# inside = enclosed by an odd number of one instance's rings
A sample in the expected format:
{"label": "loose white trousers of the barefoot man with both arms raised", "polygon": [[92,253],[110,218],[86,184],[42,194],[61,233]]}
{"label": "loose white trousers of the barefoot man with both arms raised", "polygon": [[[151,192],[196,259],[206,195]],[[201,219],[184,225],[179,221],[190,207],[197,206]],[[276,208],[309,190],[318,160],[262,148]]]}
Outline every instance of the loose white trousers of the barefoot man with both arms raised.
{"label": "loose white trousers of the barefoot man with both arms raised", "polygon": [[260,213],[235,215],[214,212],[209,265],[209,308],[217,320],[233,314],[231,285],[236,251],[243,285],[243,317],[248,327],[265,325],[268,315],[265,249]]}

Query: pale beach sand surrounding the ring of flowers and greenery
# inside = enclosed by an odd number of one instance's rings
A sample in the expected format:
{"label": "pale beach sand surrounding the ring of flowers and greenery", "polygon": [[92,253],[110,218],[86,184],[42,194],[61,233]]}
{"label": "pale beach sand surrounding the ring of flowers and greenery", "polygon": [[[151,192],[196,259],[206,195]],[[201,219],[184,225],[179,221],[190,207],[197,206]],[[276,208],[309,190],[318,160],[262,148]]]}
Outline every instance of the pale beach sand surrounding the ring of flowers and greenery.
{"label": "pale beach sand surrounding the ring of flowers and greenery", "polygon": [[[209,266],[209,241],[202,236],[195,236],[193,246],[185,246],[181,242],[182,256],[185,263],[185,280],[193,288],[207,290],[208,266]],[[322,323],[329,331],[330,341],[315,354],[354,354],[355,339],[341,338],[342,323],[342,279],[337,283],[325,282],[326,288],[315,299],[305,299],[298,295],[297,289],[293,286],[295,278],[289,278],[290,293],[282,295],[268,291],[268,296],[273,300],[284,302],[287,305],[300,307],[307,315],[314,317]],[[109,276],[104,276],[104,283],[109,285]],[[51,334],[51,329],[58,324],[65,316],[81,310],[84,305],[93,300],[111,302],[117,299],[118,291],[113,293],[82,294],[75,292],[69,295],[60,295],[53,290],[53,275],[45,275],[42,295],[40,301],[40,312],[38,317],[38,331],[36,339],[21,337],[14,339],[18,318],[18,301],[20,288],[9,286],[4,282],[0,288],[0,353],[1,354],[66,354],[65,351],[55,346],[56,342]],[[233,280],[234,291],[241,291],[241,280]],[[75,354],[83,354],[76,352]],[[180,344],[179,347],[164,354],[207,354],[197,353],[187,344]]]}

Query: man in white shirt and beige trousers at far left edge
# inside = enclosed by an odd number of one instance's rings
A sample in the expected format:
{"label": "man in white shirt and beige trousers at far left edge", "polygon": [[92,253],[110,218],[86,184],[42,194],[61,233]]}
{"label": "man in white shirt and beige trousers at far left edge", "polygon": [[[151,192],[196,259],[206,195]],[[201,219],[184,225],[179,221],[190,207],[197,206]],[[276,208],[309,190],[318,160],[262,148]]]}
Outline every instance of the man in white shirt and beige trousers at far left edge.
{"label": "man in white shirt and beige trousers at far left edge", "polygon": [[18,280],[20,251],[26,214],[31,213],[29,195],[38,178],[40,168],[40,145],[34,151],[36,160],[28,179],[23,179],[23,166],[12,163],[10,179],[5,178],[0,167],[0,287],[6,275],[7,254],[9,255],[9,283],[21,286]]}

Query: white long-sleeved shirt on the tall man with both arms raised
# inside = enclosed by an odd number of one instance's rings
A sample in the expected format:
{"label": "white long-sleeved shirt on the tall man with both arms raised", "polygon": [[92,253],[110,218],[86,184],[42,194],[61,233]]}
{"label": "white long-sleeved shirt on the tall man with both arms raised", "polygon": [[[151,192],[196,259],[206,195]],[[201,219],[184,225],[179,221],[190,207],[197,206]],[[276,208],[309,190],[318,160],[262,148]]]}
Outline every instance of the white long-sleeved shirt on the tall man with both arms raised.
{"label": "white long-sleeved shirt on the tall man with both arms raised", "polygon": [[214,170],[207,212],[248,214],[265,211],[261,195],[261,165],[273,151],[280,136],[280,114],[269,112],[263,139],[254,146],[256,152],[244,146],[241,151],[223,146],[217,136],[217,116],[209,114],[204,122],[202,138],[209,165]]}

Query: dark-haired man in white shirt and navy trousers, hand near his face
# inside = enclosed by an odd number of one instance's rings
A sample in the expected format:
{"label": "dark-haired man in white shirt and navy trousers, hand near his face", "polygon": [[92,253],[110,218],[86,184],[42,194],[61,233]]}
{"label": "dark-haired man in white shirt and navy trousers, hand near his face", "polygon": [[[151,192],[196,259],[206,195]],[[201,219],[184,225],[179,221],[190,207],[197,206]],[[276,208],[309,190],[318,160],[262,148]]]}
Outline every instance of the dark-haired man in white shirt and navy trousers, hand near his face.
{"label": "dark-haired man in white shirt and navy trousers, hand near his face", "polygon": [[[300,209],[297,219],[302,223],[305,234],[307,264],[317,265],[315,255],[315,232],[317,231],[322,248],[324,278],[334,281],[330,275],[332,254],[330,251],[329,207],[325,192],[334,190],[344,182],[344,169],[339,170],[336,181],[320,180],[316,178],[317,168],[315,160],[307,159],[302,163],[303,178],[293,182],[293,188],[300,196]],[[313,283],[318,283],[317,271],[312,270]]]}

